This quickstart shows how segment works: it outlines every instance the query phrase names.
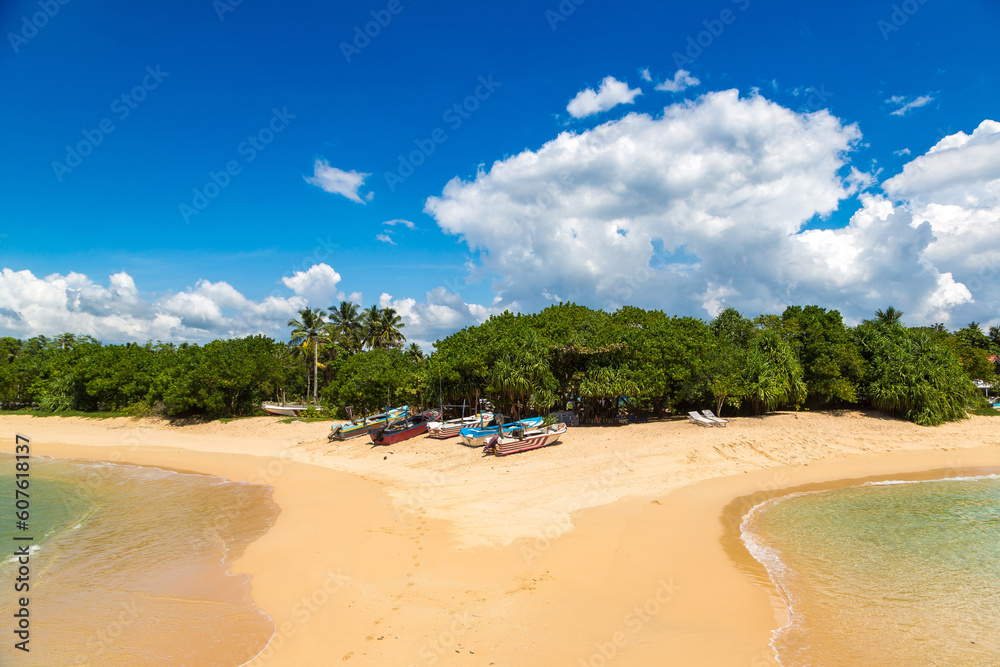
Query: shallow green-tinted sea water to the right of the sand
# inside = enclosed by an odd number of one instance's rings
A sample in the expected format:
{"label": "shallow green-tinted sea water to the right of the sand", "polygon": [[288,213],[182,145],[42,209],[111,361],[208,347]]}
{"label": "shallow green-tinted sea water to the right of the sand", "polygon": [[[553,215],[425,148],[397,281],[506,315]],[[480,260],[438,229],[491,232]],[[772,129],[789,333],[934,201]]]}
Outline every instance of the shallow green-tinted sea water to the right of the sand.
{"label": "shallow green-tinted sea water to the right of the sand", "polygon": [[789,610],[785,667],[1000,665],[1000,476],[793,494],[742,532]]}

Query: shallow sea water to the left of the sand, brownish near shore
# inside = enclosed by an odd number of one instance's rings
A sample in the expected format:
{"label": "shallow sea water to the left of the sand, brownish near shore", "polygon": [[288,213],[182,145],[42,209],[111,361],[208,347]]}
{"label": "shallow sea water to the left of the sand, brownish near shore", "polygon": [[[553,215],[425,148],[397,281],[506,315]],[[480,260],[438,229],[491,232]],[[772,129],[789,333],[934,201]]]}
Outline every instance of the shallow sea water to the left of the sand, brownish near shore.
{"label": "shallow sea water to the left of the sand, brownish near shore", "polygon": [[270,488],[33,457],[21,531],[14,472],[0,454],[0,633],[25,595],[13,537],[31,536],[31,651],[4,641],[0,664],[240,665],[264,648],[273,623],[228,570],[274,522]]}

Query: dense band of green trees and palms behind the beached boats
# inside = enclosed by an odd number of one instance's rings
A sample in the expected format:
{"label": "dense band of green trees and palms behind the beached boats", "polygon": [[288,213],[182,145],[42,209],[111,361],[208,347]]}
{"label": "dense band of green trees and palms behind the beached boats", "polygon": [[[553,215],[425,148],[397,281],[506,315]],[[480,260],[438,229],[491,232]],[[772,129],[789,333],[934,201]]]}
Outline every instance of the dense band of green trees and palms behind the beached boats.
{"label": "dense band of green trees and palms behind the beached boats", "polygon": [[204,346],[103,345],[63,334],[0,339],[0,408],[128,412],[170,417],[260,413],[264,401],[320,400],[342,414],[387,404],[475,406],[508,415],[572,408],[616,422],[713,407],[873,407],[933,425],[979,408],[972,380],[998,378],[1000,331],[973,322],[908,329],[892,307],[857,327],[837,311],[790,306],[750,320],[734,309],[710,322],[623,307],[560,304],[505,312],[435,344],[405,347],[400,317],[343,302],[303,310],[291,342],[263,336]]}

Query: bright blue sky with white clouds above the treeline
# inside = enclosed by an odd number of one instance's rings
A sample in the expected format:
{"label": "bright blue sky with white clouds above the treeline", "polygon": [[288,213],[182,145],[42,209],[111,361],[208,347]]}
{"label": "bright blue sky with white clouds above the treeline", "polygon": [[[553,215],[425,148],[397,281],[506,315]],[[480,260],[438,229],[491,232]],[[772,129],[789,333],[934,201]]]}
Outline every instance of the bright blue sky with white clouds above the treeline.
{"label": "bright blue sky with white clouds above the treeline", "polygon": [[0,333],[1000,318],[995,2],[233,2],[4,3]]}

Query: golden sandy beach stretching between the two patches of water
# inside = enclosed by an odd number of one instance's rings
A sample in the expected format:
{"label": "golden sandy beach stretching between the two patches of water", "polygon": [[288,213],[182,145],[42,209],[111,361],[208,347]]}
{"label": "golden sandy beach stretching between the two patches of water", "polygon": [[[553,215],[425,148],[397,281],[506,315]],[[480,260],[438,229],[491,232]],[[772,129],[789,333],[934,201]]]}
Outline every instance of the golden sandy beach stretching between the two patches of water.
{"label": "golden sandy beach stretching between the two patches of water", "polygon": [[233,571],[277,633],[254,665],[768,665],[784,609],[739,518],[791,488],[1000,468],[1000,420],[777,413],[571,428],[486,457],[328,443],[328,423],[0,417],[33,452],[274,488]]}

